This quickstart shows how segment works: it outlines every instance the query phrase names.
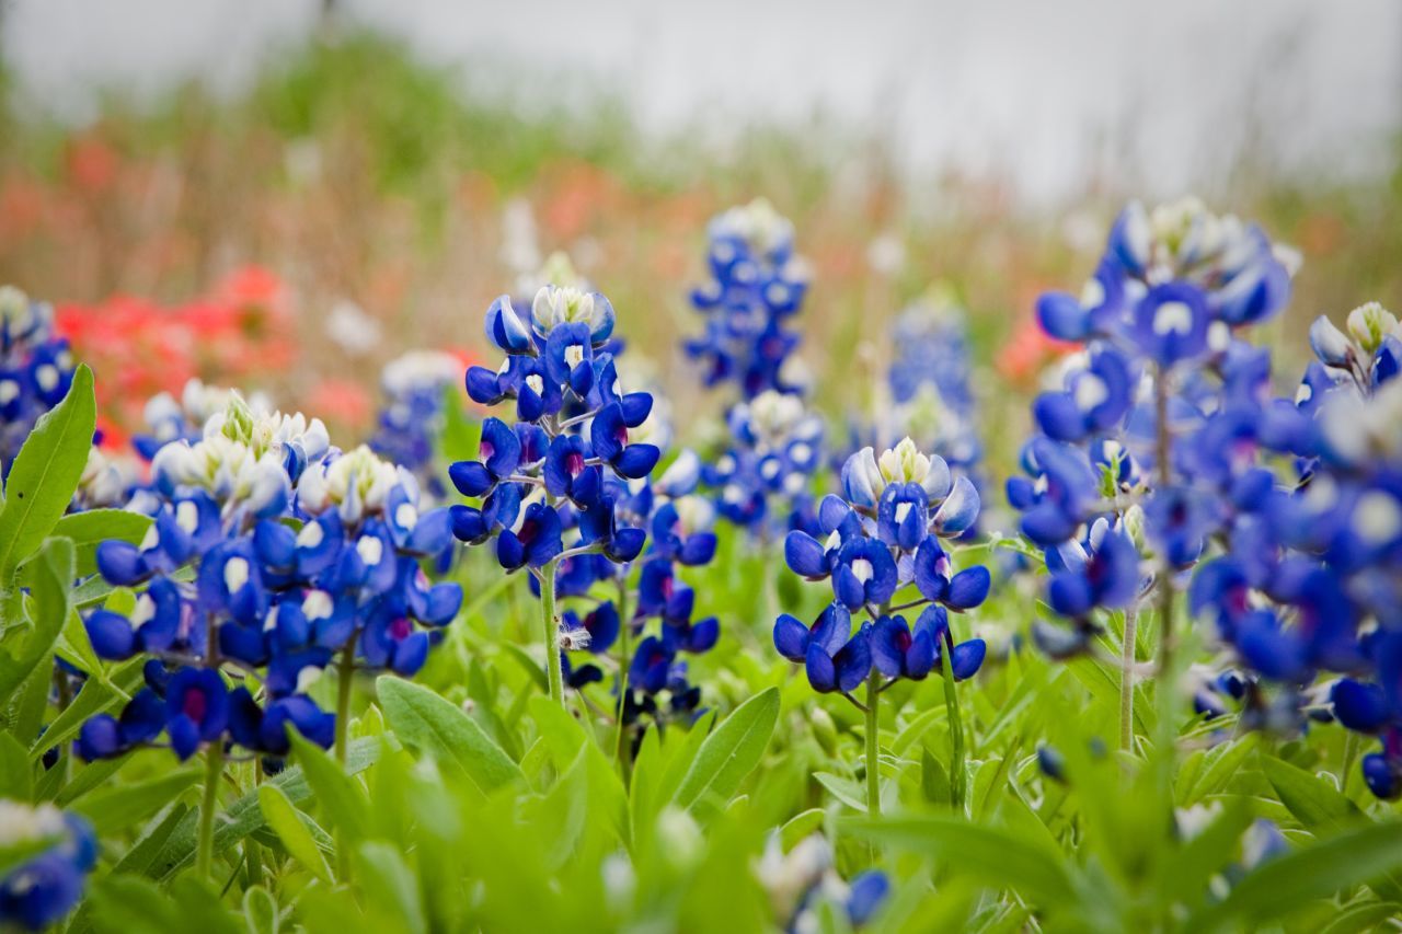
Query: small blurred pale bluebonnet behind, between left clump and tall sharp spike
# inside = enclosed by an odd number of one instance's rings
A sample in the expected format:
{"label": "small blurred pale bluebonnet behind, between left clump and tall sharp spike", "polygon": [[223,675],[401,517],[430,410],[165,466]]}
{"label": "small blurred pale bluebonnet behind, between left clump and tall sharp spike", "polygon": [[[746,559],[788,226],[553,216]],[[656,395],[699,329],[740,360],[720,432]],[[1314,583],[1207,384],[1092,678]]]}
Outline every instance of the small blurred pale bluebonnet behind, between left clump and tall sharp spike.
{"label": "small blurred pale bluebonnet behind, between left clump and tall sharp spike", "polygon": [[412,473],[435,499],[447,492],[435,464],[444,393],[461,373],[463,363],[451,353],[414,351],[386,363],[380,374],[386,404],[377,415],[370,449]]}

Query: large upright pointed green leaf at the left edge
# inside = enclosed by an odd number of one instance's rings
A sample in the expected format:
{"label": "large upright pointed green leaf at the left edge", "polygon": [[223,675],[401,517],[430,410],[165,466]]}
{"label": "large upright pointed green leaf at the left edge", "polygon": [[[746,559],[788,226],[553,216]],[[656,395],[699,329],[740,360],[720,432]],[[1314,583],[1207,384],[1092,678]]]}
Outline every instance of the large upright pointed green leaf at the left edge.
{"label": "large upright pointed green leaf at the left edge", "polygon": [[[0,588],[10,586],[18,567],[39,550],[67,510],[87,466],[95,425],[93,372],[79,366],[69,394],[39,417],[10,468],[0,509]],[[64,590],[70,581],[72,574],[63,581]]]}

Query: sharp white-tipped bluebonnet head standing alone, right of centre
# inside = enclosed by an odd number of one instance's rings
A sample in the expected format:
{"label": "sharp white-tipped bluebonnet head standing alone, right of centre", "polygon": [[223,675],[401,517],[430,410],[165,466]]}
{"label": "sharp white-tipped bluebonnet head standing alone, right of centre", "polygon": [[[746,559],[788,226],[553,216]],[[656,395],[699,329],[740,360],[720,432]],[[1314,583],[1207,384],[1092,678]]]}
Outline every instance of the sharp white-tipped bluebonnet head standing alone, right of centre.
{"label": "sharp white-tipped bluebonnet head standing alone, right of centre", "polygon": [[[908,438],[879,459],[871,447],[843,467],[843,496],[819,506],[824,541],[795,530],[784,543],[789,568],[810,581],[827,579],[833,603],[809,627],[789,614],[774,624],[780,655],[803,663],[817,691],[850,694],[875,672],[890,680],[921,680],[942,670],[956,680],[983,663],[983,639],[955,644],[949,613],[972,610],[988,595],[988,569],[955,572],[941,539],[956,539],[979,516],[979,494],[955,478],[941,457],[928,457]],[[914,586],[916,599],[893,606]],[[897,610],[924,607],[911,625]],[[852,613],[871,621],[852,632]]]}

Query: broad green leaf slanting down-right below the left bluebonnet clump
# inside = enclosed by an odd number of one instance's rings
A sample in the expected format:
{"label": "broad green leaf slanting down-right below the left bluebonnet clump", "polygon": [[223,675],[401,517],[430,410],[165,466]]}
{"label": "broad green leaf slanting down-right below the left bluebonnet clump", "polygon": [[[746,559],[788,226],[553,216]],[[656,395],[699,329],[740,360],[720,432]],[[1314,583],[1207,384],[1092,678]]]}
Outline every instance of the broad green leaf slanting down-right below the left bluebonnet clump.
{"label": "broad green leaf slanting down-right below the left bluebonnet clump", "polygon": [[395,736],[442,764],[456,766],[484,792],[524,783],[520,766],[451,701],[390,675],[376,682],[376,691]]}

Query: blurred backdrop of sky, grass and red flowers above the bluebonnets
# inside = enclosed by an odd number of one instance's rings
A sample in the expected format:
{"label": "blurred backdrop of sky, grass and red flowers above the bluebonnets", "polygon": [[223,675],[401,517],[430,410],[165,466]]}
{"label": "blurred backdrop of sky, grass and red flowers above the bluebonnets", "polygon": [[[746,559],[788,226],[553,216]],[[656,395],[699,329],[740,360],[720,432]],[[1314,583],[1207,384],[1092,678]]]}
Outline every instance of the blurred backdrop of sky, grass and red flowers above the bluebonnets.
{"label": "blurred backdrop of sky, grass and red flowers above the bluebonnets", "polygon": [[202,374],[363,433],[384,362],[492,356],[486,304],[564,250],[686,421],[705,223],[764,195],[829,411],[944,283],[1015,438],[1035,297],[1126,198],[1302,252],[1286,381],[1314,316],[1402,304],[1399,49],[1392,0],[0,0],[0,282],[115,428]]}

